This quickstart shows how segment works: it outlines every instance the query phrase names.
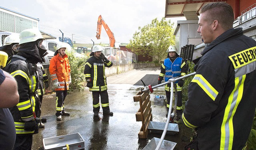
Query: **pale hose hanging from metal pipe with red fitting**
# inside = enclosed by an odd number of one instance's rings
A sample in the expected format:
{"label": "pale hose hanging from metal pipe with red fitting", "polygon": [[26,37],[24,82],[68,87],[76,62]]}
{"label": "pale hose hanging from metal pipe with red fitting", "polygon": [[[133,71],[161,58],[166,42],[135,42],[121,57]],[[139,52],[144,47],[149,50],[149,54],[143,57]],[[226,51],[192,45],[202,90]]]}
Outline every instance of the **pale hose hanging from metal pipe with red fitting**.
{"label": "pale hose hanging from metal pipe with red fitting", "polygon": [[144,88],[141,89],[142,92],[148,92],[148,91],[150,91],[150,93],[152,93],[152,92],[154,92],[154,90],[153,90],[154,88],[158,88],[158,87],[163,86],[163,85],[166,85],[166,84],[171,84],[170,108],[169,108],[169,111],[168,111],[168,116],[167,116],[166,124],[165,124],[165,126],[164,126],[164,131],[163,131],[163,133],[162,133],[162,136],[161,136],[161,138],[160,138],[159,143],[158,143],[157,146],[156,146],[156,150],[159,150],[159,149],[160,149],[160,147],[161,147],[161,145],[162,145],[162,142],[164,141],[164,137],[165,137],[166,132],[167,132],[169,120],[170,120],[170,118],[171,118],[174,82],[176,82],[176,81],[178,81],[178,80],[180,80],[180,79],[183,79],[183,78],[187,78],[187,77],[189,77],[189,76],[193,76],[194,74],[196,74],[196,72],[187,74],[187,75],[185,75],[185,76],[181,76],[181,77],[179,77],[179,78],[169,79],[167,82],[158,84],[158,85],[156,85],[156,86],[151,86],[151,85],[144,86]]}

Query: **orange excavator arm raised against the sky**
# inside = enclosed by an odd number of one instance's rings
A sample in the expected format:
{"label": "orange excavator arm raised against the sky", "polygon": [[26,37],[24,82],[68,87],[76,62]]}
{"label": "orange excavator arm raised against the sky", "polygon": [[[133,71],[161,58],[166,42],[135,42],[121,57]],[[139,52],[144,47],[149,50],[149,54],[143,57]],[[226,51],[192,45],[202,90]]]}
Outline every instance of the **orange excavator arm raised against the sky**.
{"label": "orange excavator arm raised against the sky", "polygon": [[104,27],[104,29],[106,30],[108,37],[109,37],[109,42],[110,42],[110,47],[114,47],[115,45],[115,37],[114,37],[114,33],[110,30],[110,28],[108,28],[108,25],[106,24],[106,22],[103,20],[103,18],[101,17],[101,15],[98,18],[98,22],[97,22],[97,32],[96,32],[96,38],[100,39],[100,33],[101,33],[101,27]]}

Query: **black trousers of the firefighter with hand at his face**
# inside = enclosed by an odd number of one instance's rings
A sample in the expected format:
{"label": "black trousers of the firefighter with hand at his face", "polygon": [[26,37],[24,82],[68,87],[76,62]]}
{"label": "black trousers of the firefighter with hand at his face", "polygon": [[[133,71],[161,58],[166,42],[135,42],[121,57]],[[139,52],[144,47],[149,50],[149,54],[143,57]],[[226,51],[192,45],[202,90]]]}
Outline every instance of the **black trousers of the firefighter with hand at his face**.
{"label": "black trousers of the firefighter with hand at his face", "polygon": [[102,106],[102,110],[104,113],[110,112],[109,102],[108,102],[108,92],[104,91],[92,91],[92,104],[93,104],[93,112],[100,111],[100,102]]}

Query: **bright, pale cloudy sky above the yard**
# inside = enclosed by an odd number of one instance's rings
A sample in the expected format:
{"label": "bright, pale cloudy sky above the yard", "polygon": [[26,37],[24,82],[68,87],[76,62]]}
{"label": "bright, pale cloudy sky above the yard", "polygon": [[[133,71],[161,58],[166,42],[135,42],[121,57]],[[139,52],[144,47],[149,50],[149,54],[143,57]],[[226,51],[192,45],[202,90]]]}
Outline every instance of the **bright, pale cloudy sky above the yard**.
{"label": "bright, pale cloudy sky above the yard", "polygon": [[[0,6],[38,18],[39,29],[53,36],[68,37],[76,43],[104,43],[109,38],[102,26],[96,38],[101,15],[114,33],[116,43],[129,43],[138,27],[150,24],[165,14],[166,0],[3,0]],[[181,18],[166,18],[176,24]],[[174,26],[175,27],[175,26]]]}

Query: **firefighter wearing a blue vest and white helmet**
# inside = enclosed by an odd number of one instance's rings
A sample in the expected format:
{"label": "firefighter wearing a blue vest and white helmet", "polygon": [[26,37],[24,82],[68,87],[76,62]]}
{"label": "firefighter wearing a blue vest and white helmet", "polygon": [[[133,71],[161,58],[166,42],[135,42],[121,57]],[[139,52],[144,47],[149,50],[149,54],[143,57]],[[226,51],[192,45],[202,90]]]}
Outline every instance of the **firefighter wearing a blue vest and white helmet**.
{"label": "firefighter wearing a blue vest and white helmet", "polygon": [[[158,84],[161,84],[162,80],[164,79],[165,82],[167,82],[170,78],[178,78],[180,76],[185,76],[187,73],[187,65],[184,59],[180,58],[180,56],[177,54],[177,49],[174,46],[169,46],[167,49],[168,54],[167,58],[164,60],[164,62],[161,65],[161,72],[158,77]],[[182,86],[184,84],[184,80],[178,80],[175,82],[177,92],[178,92],[178,102],[176,107],[177,112],[177,120],[180,120],[182,115]],[[170,96],[171,96],[171,85],[166,84],[164,86],[164,90],[166,93],[167,98],[167,114],[170,108]]]}

